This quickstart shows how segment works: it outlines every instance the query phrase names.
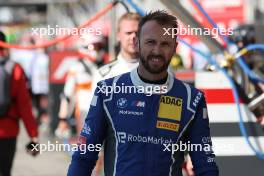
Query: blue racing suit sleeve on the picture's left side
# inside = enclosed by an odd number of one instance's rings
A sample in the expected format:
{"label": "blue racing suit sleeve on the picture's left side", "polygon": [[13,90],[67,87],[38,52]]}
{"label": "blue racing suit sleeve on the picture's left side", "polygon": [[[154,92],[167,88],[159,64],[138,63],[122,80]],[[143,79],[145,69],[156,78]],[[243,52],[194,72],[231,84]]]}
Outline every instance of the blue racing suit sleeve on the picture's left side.
{"label": "blue racing suit sleeve on the picture's left side", "polygon": [[102,97],[97,86],[67,176],[87,176],[92,173],[107,129]]}

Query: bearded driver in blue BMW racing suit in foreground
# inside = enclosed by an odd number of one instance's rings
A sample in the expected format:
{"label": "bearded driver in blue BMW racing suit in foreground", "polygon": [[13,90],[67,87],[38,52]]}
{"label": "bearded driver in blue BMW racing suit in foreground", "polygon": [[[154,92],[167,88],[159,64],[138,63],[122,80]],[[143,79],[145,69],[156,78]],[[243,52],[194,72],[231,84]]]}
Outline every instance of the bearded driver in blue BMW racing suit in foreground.
{"label": "bearded driver in blue BMW racing suit in foreground", "polygon": [[181,176],[185,150],[197,176],[218,176],[204,95],[167,71],[169,28],[177,20],[164,11],[140,21],[139,66],[98,83],[68,176],[90,175],[103,142],[106,176]]}

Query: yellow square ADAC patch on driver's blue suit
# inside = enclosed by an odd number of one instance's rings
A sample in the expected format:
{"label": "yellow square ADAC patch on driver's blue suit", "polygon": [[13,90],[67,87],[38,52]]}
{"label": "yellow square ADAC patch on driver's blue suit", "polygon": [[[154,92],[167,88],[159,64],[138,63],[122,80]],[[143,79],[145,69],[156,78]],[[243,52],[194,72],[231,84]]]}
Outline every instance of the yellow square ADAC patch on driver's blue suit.
{"label": "yellow square ADAC patch on driver's blue suit", "polygon": [[181,120],[182,99],[171,96],[161,96],[158,117],[171,120]]}

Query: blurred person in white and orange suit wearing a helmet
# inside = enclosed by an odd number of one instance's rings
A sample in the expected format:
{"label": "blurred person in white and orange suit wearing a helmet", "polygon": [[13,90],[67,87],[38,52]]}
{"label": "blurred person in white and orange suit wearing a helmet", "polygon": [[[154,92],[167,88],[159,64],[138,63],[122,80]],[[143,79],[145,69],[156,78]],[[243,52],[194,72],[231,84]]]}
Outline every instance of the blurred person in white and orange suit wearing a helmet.
{"label": "blurred person in white and orange suit wearing a helmet", "polygon": [[99,66],[108,61],[103,50],[104,38],[101,35],[87,34],[79,40],[80,58],[67,73],[59,110],[59,124],[55,134],[60,138],[69,138],[71,130],[68,120],[75,118],[79,133],[87,112],[87,104],[92,96],[92,81]]}

